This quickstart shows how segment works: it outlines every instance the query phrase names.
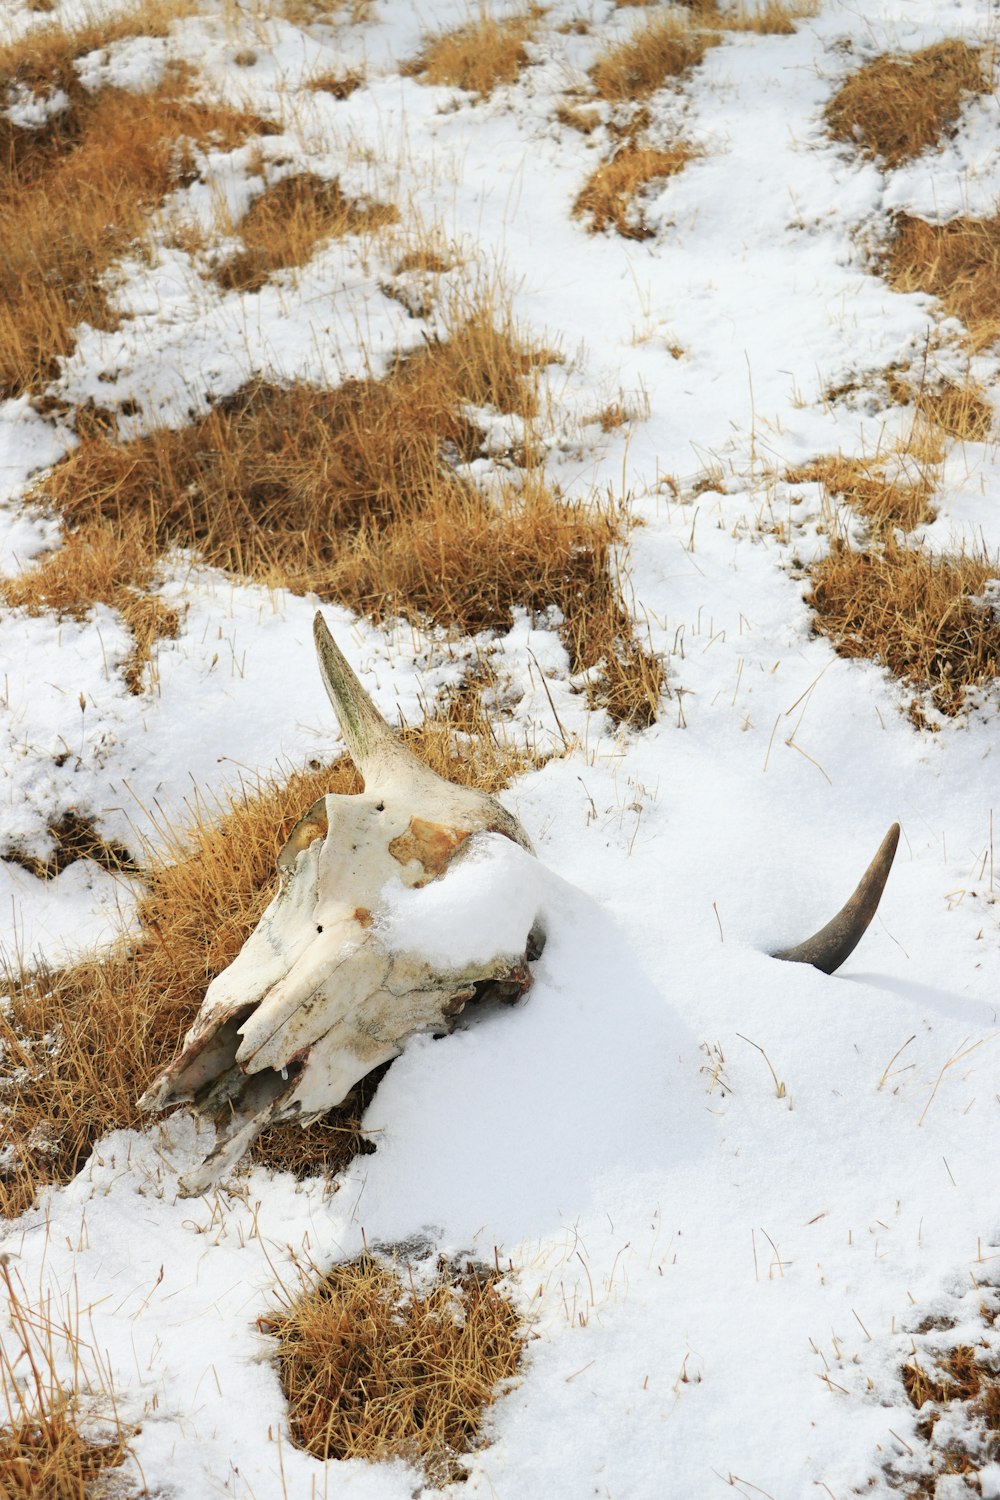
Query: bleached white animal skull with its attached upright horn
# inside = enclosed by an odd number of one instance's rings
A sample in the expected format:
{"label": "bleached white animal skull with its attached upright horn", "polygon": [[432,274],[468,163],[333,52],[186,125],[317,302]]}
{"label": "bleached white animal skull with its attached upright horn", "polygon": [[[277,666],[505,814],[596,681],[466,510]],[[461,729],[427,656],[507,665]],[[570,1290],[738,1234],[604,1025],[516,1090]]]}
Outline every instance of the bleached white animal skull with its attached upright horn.
{"label": "bleached white animal skull with its attached upright horn", "polygon": [[[414,1034],[450,1030],[474,996],[517,999],[544,942],[523,896],[513,903],[517,938],[508,909],[496,933],[502,951],[483,957],[480,940],[471,962],[442,960],[435,944],[421,952],[412,920],[402,938],[385,920],[391,892],[441,879],[484,836],[528,854],[531,843],[493,796],[442,780],[403,746],[321,615],[315,639],[364,790],[321,796],[298,819],[277,860],[277,894],[208,986],[180,1054],[139,1100],[147,1110],[190,1104],[214,1120],[214,1150],[181,1179],[187,1194],[211,1186],[265,1125],[309,1124]],[[516,879],[516,862],[498,867]]]}

